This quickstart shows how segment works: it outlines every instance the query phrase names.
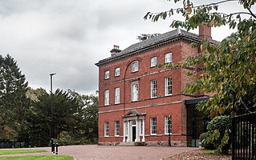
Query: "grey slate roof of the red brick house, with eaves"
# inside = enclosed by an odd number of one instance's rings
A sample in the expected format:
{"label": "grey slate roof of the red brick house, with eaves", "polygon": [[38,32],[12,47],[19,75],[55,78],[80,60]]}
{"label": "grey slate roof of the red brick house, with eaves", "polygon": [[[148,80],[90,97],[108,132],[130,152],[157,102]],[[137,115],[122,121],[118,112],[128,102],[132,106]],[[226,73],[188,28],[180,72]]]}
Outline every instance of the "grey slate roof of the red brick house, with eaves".
{"label": "grey slate roof of the red brick house, with eaves", "polygon": [[104,63],[112,62],[120,58],[125,58],[133,54],[138,54],[144,50],[149,50],[156,46],[161,46],[169,42],[174,42],[181,39],[187,40],[189,42],[200,42],[200,39],[198,38],[197,34],[193,34],[181,29],[176,29],[169,31],[165,34],[160,34],[159,36],[156,36],[154,38],[149,38],[142,42],[133,44],[132,46],[129,46],[128,48],[120,51],[120,53],[116,54],[113,57],[100,60],[99,62],[95,63],[95,65],[100,66]]}

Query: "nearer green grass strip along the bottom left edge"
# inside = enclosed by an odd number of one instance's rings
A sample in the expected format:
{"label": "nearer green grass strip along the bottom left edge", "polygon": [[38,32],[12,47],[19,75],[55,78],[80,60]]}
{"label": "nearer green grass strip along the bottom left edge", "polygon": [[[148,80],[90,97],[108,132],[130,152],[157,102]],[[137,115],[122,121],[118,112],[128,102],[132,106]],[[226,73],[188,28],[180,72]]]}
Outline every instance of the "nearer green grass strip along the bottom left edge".
{"label": "nearer green grass strip along the bottom left edge", "polygon": [[5,160],[51,160],[51,159],[58,159],[58,160],[73,160],[74,158],[67,156],[67,155],[36,155],[36,156],[15,156],[15,157],[0,157],[0,159]]}

